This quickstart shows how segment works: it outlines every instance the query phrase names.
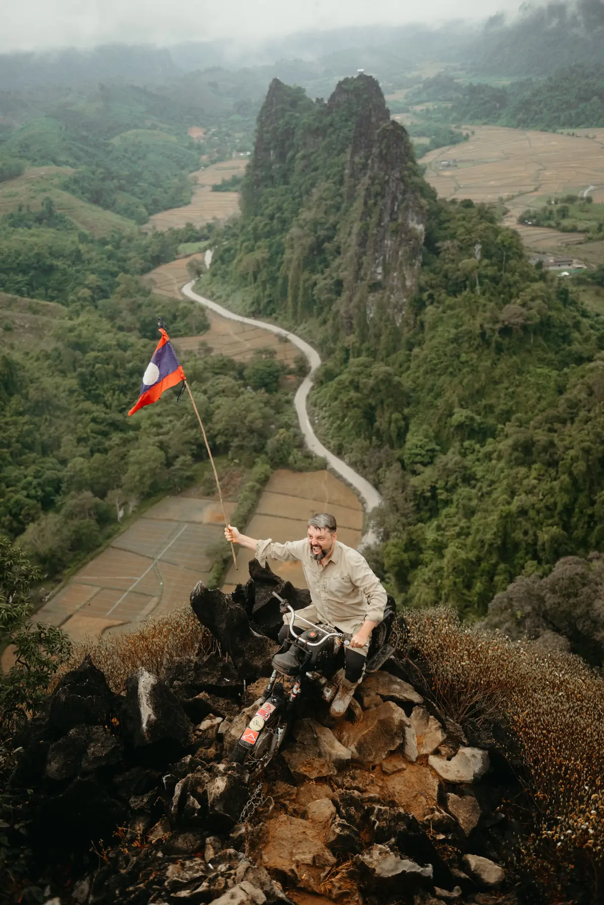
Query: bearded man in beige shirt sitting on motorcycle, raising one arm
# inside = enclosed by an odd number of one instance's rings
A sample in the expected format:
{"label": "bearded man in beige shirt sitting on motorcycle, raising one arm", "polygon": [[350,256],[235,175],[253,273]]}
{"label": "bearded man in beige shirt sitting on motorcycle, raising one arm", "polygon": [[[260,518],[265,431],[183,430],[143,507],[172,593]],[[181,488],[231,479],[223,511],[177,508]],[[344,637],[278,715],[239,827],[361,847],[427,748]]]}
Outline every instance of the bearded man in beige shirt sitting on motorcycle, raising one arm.
{"label": "bearded man in beige shirt sitting on motorcycle, raising one arm", "polygon": [[[336,519],[327,512],[309,519],[308,535],[304,540],[288,540],[284,544],[274,543],[271,538],[255,540],[231,525],[225,528],[225,537],[254,550],[256,559],[262,565],[266,557],[279,562],[297,559],[302,563],[312,600],[310,606],[298,610],[294,620],[294,625],[302,632],[308,626],[300,622],[298,616],[315,624],[334,625],[340,632],[352,635],[350,647],[345,652],[344,678],[331,704],[331,714],[343,716],[362,678],[371,632],[384,618],[387,598],[379,578],[357,550],[340,543]],[[279,633],[283,645],[287,637],[288,625],[283,625]]]}

